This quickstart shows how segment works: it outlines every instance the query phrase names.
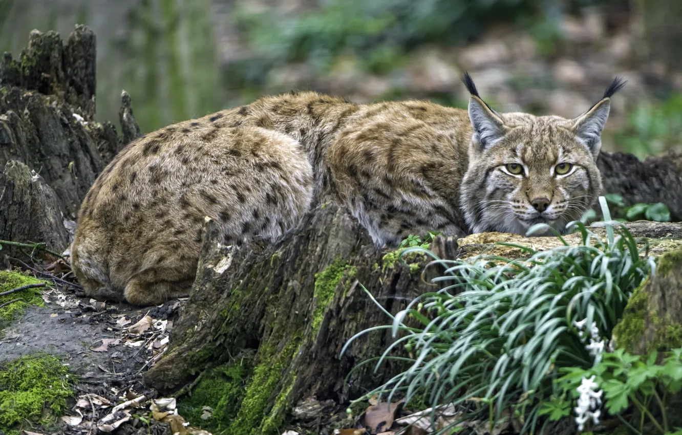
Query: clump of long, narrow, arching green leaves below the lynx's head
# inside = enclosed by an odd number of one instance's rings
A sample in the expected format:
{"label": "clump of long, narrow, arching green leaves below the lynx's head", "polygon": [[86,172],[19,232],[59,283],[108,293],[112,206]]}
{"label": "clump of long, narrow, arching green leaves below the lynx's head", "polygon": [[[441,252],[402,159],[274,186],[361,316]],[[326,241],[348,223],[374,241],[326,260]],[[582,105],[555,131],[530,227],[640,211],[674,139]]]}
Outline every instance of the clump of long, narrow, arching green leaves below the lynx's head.
{"label": "clump of long, narrow, arching green leaves below the lynx's head", "polygon": [[[391,316],[392,325],[349,340],[390,328],[397,340],[370,361],[376,368],[386,359],[409,361],[407,370],[368,395],[387,393],[390,401],[398,394],[410,402],[424,394],[434,409],[473,400],[487,405],[476,418],[490,419],[491,429],[504,410],[523,423],[522,433],[535,428],[558,369],[587,369],[594,363],[574,322],[594,322],[608,341],[632,290],[655,270],[652,257],[640,256],[646,247],[638,249],[632,234],[610,220],[606,200],[599,200],[606,240],[574,222],[580,245],[567,245],[558,234],[564,245],[544,252],[514,245],[531,254],[521,260],[488,254],[441,260],[424,248],[411,248],[445,267],[433,280],[445,287],[417,297]],[[547,229],[541,225],[531,231]],[[389,355],[401,345],[409,358]]]}

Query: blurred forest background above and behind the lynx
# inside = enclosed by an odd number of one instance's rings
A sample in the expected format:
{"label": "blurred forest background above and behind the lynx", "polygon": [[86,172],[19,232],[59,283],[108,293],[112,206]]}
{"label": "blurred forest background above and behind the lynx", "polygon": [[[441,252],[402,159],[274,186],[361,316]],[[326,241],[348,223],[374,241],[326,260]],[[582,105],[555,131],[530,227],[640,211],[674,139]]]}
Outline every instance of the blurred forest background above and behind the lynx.
{"label": "blurred forest background above and behind the lynx", "polygon": [[679,0],[0,0],[0,52],[32,29],[98,38],[98,119],[144,132],[290,89],[575,117],[616,75],[604,147],[682,150]]}

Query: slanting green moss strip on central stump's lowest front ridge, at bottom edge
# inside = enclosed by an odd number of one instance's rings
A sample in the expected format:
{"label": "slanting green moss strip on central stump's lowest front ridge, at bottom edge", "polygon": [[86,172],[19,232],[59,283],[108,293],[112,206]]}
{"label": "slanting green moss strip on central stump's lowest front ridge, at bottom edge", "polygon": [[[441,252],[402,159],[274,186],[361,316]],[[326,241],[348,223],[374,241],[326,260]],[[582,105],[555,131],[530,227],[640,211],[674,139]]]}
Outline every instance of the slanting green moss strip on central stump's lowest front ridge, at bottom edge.
{"label": "slanting green moss strip on central stump's lowest front ridge, at bottom edge", "polygon": [[[269,412],[269,417],[265,418],[266,407],[271,400],[273,393],[276,391],[278,385],[282,381],[282,374],[291,362],[291,357],[295,355],[299,346],[300,338],[291,339],[284,348],[277,353],[271,350],[267,344],[261,346],[260,359],[263,361],[254,368],[254,375],[250,383],[246,387],[246,395],[244,396],[237,419],[235,419],[230,429],[226,432],[230,435],[269,435],[273,433],[271,425],[284,418],[282,401],[287,398],[288,394],[282,396],[278,395],[277,402],[280,407],[276,409],[273,406]],[[293,385],[293,380],[289,381]],[[286,391],[286,386],[280,391]],[[267,423],[269,421],[269,423]],[[261,430],[261,425],[267,423],[269,430]]]}

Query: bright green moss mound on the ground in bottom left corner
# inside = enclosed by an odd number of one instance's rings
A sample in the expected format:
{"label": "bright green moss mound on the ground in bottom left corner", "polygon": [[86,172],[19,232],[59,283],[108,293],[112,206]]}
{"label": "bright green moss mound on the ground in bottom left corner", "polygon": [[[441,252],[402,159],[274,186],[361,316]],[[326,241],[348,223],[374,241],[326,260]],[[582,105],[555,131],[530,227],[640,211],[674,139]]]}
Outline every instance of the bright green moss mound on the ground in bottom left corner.
{"label": "bright green moss mound on the ground in bottom left corner", "polygon": [[0,430],[46,424],[66,410],[75,379],[53,355],[21,357],[0,371]]}

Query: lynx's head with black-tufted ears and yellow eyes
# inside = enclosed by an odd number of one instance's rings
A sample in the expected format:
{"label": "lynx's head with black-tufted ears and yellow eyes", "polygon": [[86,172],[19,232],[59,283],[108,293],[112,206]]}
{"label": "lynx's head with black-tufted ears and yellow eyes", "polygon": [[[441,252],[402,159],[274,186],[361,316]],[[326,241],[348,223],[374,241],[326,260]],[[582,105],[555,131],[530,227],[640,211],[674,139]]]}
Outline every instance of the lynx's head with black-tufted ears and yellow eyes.
{"label": "lynx's head with black-tufted ears and yellow eyes", "polygon": [[625,82],[614,79],[602,100],[565,119],[496,112],[469,74],[463,81],[473,127],[461,197],[467,224],[473,233],[525,234],[538,223],[564,233],[602,193],[595,162],[610,97]]}

